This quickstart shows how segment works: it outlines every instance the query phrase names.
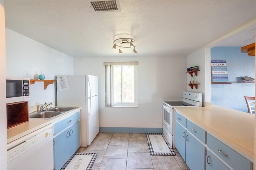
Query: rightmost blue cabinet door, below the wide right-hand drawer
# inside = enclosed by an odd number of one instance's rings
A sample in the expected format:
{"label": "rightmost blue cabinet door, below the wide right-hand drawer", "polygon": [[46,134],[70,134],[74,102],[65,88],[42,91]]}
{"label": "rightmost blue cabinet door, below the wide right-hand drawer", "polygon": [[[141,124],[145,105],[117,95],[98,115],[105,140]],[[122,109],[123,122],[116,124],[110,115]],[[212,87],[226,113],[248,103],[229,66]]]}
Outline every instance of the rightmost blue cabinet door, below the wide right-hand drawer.
{"label": "rightmost blue cabinet door, below the wide right-hand drawer", "polygon": [[206,170],[230,170],[230,168],[212,154],[210,150],[207,150]]}

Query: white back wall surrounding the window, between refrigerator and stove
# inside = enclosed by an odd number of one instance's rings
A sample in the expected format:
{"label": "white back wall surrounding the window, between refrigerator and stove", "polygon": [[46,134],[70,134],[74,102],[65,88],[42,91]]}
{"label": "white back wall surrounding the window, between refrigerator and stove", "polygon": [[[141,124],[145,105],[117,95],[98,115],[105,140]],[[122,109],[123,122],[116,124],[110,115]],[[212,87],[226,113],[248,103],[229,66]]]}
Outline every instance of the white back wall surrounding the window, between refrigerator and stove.
{"label": "white back wall surrounding the window, between refrigerator and stove", "polygon": [[[138,108],[106,108],[104,62],[138,61]],[[100,127],[162,128],[162,102],[182,100],[186,57],[74,58],[74,74],[99,77]]]}

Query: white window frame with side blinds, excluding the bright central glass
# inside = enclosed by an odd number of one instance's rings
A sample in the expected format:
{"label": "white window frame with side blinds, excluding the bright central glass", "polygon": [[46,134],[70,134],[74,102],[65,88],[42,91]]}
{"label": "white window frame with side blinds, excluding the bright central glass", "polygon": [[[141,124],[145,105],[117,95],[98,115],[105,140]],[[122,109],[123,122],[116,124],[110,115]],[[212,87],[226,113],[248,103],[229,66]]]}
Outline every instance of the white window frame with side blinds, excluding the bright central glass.
{"label": "white window frame with side blinds, excluding the bright central glass", "polygon": [[[105,106],[106,107],[138,107],[138,62],[105,62]],[[113,66],[134,66],[134,102],[113,102]],[[121,85],[122,86],[122,85]]]}

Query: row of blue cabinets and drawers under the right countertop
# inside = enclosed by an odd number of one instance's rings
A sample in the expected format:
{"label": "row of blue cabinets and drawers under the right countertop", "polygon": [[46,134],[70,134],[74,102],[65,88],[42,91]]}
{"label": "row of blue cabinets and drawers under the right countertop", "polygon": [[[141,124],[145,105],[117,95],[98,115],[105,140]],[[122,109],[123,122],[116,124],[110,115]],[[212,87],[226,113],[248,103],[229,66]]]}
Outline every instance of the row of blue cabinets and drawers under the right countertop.
{"label": "row of blue cabinets and drawers under the right countertop", "polygon": [[239,152],[177,111],[175,117],[175,146],[190,170],[252,170]]}

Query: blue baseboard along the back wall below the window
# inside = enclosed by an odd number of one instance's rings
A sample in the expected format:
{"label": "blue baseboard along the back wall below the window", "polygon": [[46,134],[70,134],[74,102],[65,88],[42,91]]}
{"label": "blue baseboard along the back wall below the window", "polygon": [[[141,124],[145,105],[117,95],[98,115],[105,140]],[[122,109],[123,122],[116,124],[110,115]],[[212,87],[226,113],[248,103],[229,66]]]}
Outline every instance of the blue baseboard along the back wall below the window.
{"label": "blue baseboard along the back wall below the window", "polygon": [[100,132],[106,132],[106,133],[163,133],[163,128],[100,127]]}

